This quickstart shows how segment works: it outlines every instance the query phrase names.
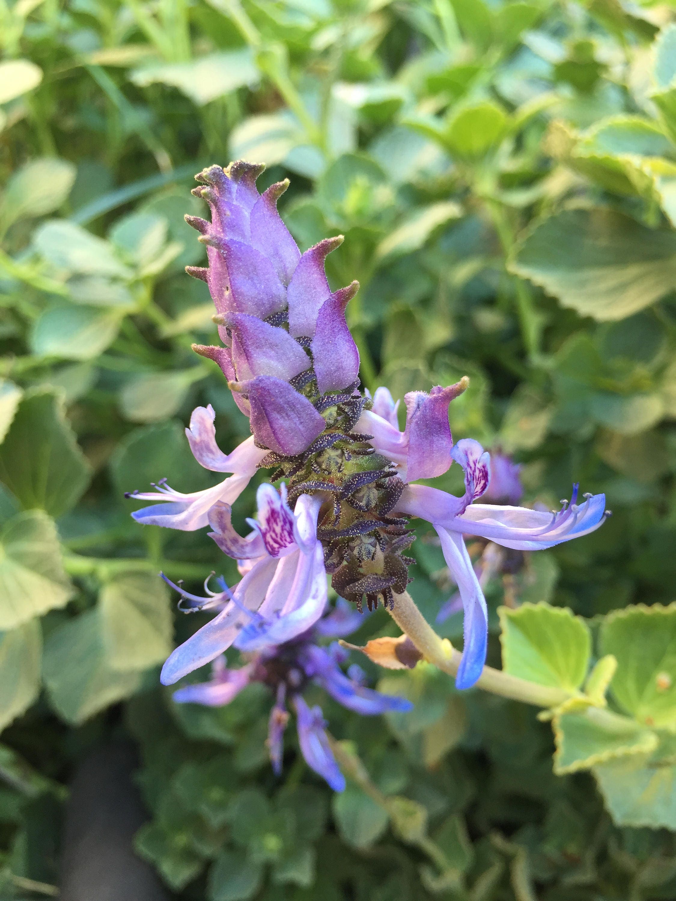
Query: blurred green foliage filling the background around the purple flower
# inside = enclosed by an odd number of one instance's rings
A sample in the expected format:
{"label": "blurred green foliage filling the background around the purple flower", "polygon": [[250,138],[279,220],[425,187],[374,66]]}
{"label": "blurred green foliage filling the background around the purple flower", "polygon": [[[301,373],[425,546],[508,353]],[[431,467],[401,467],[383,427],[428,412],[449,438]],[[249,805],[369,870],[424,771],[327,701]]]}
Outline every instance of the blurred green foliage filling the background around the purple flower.
{"label": "blurred green foliage filling the background around the purple flower", "polygon": [[[361,281],[368,387],[468,374],[453,436],[514,455],[528,503],[557,506],[573,480],[607,493],[602,530],[494,580],[493,627],[507,593],[568,605],[594,635],[627,604],[669,604],[672,20],[625,0],[0,0],[3,897],[49,894],[69,774],[118,735],[138,742],[152,815],[138,851],[177,898],[676,896],[672,750],[654,764],[660,815],[606,785],[613,820],[588,772],[553,775],[533,709],[425,666],[382,680],[416,698],[407,718],[325,706],[408,817],[359,779],[332,797],[293,749],[278,782],[262,688],[213,710],[158,683],[201,614],[172,618],[157,571],[198,584],[233,561],[203,532],[140,528],[123,499],[161,477],[210,484],[182,433],[195,405],[214,405],[224,449],[248,433],[190,350],[215,325],[183,272],[204,255],[183,214],[202,212],[200,168],[265,162],[260,187],[291,178],[281,212],[302,250],[345,235],[329,276]],[[434,621],[441,551],[423,534],[414,552]],[[674,616],[657,663],[676,679]],[[457,615],[441,628],[461,634]],[[356,640],[387,633],[379,611]]]}

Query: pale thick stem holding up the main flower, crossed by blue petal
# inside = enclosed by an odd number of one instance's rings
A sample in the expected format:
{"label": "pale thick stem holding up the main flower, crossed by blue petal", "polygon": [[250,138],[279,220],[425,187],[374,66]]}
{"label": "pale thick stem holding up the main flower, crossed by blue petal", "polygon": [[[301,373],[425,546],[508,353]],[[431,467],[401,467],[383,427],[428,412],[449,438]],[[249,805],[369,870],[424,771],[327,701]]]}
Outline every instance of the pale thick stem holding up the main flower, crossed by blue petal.
{"label": "pale thick stem holding up the main flower, crossed by blue petal", "polygon": [[[435,667],[443,669],[451,676],[456,675],[462,660],[460,651],[455,651],[451,642],[441,639],[434,632],[407,591],[394,596],[394,610],[390,610],[389,613],[401,631],[408,635],[418,651],[423,654],[425,660],[434,663]],[[515,701],[523,701],[525,704],[534,704],[538,707],[556,707],[571,697],[570,692],[562,688],[536,685],[534,682],[510,676],[492,667],[483,668],[477,687],[493,695],[510,697]]]}

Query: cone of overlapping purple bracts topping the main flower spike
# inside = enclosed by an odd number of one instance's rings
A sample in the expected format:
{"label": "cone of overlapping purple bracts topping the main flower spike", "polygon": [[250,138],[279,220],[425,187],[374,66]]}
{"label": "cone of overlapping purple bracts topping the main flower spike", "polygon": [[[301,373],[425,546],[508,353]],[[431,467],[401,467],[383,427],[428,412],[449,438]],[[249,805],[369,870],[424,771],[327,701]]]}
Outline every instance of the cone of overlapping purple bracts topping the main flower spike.
{"label": "cone of overlapping purple bracts topping the main flower spike", "polygon": [[[301,254],[277,212],[288,181],[260,195],[256,179],[263,168],[235,162],[196,177],[204,185],[193,193],[209,204],[211,222],[186,219],[200,232],[209,265],[188,272],[209,287],[224,347],[195,350],[224,372],[237,405],[251,417],[256,443],[293,456],[324,431],[321,396],[358,376],[345,308],[359,283],[331,291],[324,259],[343,238]],[[301,390],[306,385],[310,397]]]}

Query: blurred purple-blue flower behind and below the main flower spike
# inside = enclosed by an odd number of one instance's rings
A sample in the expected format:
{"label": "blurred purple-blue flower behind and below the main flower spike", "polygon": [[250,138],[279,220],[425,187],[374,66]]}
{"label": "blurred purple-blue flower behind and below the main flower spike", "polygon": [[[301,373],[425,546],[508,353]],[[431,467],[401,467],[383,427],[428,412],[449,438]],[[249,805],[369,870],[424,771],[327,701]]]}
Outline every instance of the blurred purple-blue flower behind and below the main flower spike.
{"label": "blurred purple-blue flower behind and below the main flower spike", "polygon": [[[284,754],[284,733],[288,706],[296,712],[298,744],[308,766],[324,778],[334,791],[343,791],[345,779],[333,757],[326,735],[324,714],[318,706],[309,707],[303,693],[310,683],[322,688],[339,704],[365,716],[411,709],[406,698],[381,695],[364,686],[361,670],[343,673],[341,664],[346,652],[338,645],[323,647],[317,641],[327,634],[349,635],[361,625],[346,615],[347,602],[338,604],[314,626],[288,642],[269,644],[248,655],[245,666],[227,669],[224,658],[212,664],[211,679],[197,685],[179,688],[174,693],[178,703],[218,706],[229,704],[250,682],[262,682],[275,696],[268,724],[268,749],[272,769],[279,775]],[[354,678],[356,675],[357,678]],[[288,705],[288,706],[287,706]]]}

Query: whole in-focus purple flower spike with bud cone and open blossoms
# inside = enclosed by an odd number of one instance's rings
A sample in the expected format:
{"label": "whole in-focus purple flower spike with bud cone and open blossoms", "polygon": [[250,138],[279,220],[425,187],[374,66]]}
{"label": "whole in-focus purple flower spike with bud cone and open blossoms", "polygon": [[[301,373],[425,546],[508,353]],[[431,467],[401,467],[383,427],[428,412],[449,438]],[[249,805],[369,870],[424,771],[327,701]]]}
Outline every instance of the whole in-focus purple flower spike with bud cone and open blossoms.
{"label": "whole in-focus purple flower spike with bud cone and open blossoms", "polygon": [[[324,259],[343,239],[320,241],[301,254],[277,212],[288,182],[261,195],[262,169],[243,162],[206,168],[194,193],[209,204],[211,221],[187,216],[208,256],[207,268],[187,271],[206,281],[222,341],[195,350],[223,371],[252,437],[224,454],[215,441],[214,411],[198,407],[187,429],[191,450],[206,469],[232,475],[194,494],[164,481],[154,492],[133,494],[157,502],[132,514],[141,523],[211,526],[210,537],[242,573],[232,590],[222,585],[199,597],[178,589],[188,609],[216,615],[171,654],[162,681],[176,682],[233,643],[246,653],[274,655],[320,621],[327,575],[360,613],[364,603],[372,609],[382,602],[397,622],[419,625],[408,606],[398,616],[396,605],[397,597],[412,603],[407,549],[415,539],[410,521],[421,517],[433,523],[459,588],[464,649],[456,684],[470,687],[483,678],[488,614],[463,536],[516,551],[552,547],[598,528],[605,498],[585,496],[578,505],[575,487],[570,504],[547,514],[513,505],[512,484],[505,498],[491,498],[501,503],[476,503],[489,489],[489,454],[471,439],[454,444],[449,425],[449,405],[467,378],[407,394],[400,431],[388,390],[379,388],[372,398],[360,390],[359,352],[345,319],[359,286],[332,291],[324,272]],[[461,497],[412,484],[442,475],[453,460],[464,471]],[[253,531],[242,538],[233,530],[231,505],[260,468],[272,470],[269,481],[279,488],[260,487]],[[411,638],[432,647],[429,636]],[[416,646],[425,653],[421,643]],[[296,710],[305,722],[302,699]]]}

